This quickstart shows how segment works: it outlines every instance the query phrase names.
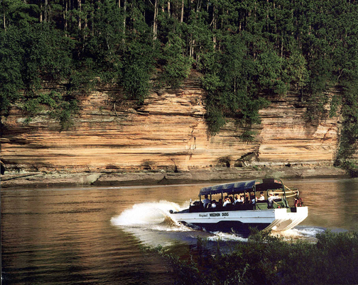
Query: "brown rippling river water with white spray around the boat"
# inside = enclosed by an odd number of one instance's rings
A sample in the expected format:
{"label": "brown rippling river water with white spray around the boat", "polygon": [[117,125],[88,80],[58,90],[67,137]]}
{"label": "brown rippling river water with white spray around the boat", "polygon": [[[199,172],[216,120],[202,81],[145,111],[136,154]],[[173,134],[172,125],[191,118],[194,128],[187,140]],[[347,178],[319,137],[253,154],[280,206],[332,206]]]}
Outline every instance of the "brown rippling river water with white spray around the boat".
{"label": "brown rippling river water with white spray around the boat", "polygon": [[[283,235],[314,240],[325,229],[358,230],[358,179],[286,180],[300,190],[308,218]],[[1,190],[3,284],[173,284],[170,265],[143,246],[170,249],[245,242],[233,234],[176,225],[207,184]]]}

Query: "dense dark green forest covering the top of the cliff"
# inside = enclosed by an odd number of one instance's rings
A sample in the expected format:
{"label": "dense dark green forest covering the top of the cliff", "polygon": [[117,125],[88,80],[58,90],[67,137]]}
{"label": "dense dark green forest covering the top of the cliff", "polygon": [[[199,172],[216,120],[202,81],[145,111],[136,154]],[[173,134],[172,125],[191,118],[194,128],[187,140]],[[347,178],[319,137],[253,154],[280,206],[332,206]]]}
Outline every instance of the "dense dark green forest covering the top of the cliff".
{"label": "dense dark green forest covering the top of the cliff", "polygon": [[[4,116],[14,103],[29,118],[45,106],[68,128],[78,96],[99,84],[141,105],[158,70],[165,87],[196,69],[212,134],[227,116],[259,123],[268,99],[290,90],[304,94],[308,118],[343,104],[341,157],[357,141],[356,0],[1,0],[0,11]],[[44,80],[67,90],[43,94]],[[342,96],[328,101],[332,86]]]}

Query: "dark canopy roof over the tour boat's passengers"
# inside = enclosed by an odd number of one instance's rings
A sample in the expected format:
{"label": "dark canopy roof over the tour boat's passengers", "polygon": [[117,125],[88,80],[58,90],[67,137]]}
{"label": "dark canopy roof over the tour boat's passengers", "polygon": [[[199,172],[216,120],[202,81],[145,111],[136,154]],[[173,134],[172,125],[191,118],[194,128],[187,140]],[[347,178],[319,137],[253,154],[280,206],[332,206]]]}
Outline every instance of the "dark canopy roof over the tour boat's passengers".
{"label": "dark canopy roof over the tour boat's passengers", "polygon": [[251,181],[234,182],[228,184],[219,184],[214,186],[207,186],[200,189],[199,195],[210,195],[210,194],[237,194],[249,191],[256,186],[256,191],[266,191],[274,189],[282,189],[283,183],[280,179],[264,178],[256,179]]}

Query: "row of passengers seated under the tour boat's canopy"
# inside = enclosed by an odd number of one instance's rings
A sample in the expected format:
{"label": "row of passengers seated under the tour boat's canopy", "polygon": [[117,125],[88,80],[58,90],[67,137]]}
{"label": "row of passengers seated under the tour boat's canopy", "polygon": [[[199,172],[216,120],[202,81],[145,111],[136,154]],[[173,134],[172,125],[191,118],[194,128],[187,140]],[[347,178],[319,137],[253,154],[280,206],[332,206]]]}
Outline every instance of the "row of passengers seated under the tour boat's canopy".
{"label": "row of passengers seated under the tour boat's canopy", "polygon": [[[272,192],[269,194],[268,196],[268,203],[272,204],[274,199],[279,199],[279,197],[277,196],[278,194],[276,194],[276,196],[273,196]],[[208,208],[211,206],[211,208],[216,208],[217,206],[228,206],[228,205],[240,205],[240,204],[244,204],[244,203],[251,203],[254,204],[256,203],[256,201],[265,201],[265,195],[264,192],[260,192],[260,197],[257,198],[254,194],[251,194],[251,196],[249,196],[248,193],[246,193],[246,195],[239,195],[236,194],[235,198],[233,198],[233,196],[225,196],[224,198],[224,203],[222,202],[222,199],[219,199],[219,201],[215,201],[212,200],[210,201],[210,199],[208,199],[208,196],[205,195],[205,199],[202,200],[203,206],[204,208]]]}

